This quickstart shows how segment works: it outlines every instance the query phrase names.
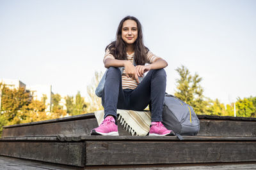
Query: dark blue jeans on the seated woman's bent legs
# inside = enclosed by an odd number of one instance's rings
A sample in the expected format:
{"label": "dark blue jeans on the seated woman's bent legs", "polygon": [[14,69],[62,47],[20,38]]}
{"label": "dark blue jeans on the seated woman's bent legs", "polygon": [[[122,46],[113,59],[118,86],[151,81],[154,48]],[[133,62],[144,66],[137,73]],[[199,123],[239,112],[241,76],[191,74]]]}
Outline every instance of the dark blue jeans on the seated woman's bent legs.
{"label": "dark blue jeans on the seated woman's bent legs", "polygon": [[162,121],[165,89],[166,73],[164,69],[148,71],[136,89],[123,90],[120,69],[109,67],[102,95],[104,118],[108,115],[113,115],[116,118],[116,109],[143,111],[151,102],[152,122]]}

